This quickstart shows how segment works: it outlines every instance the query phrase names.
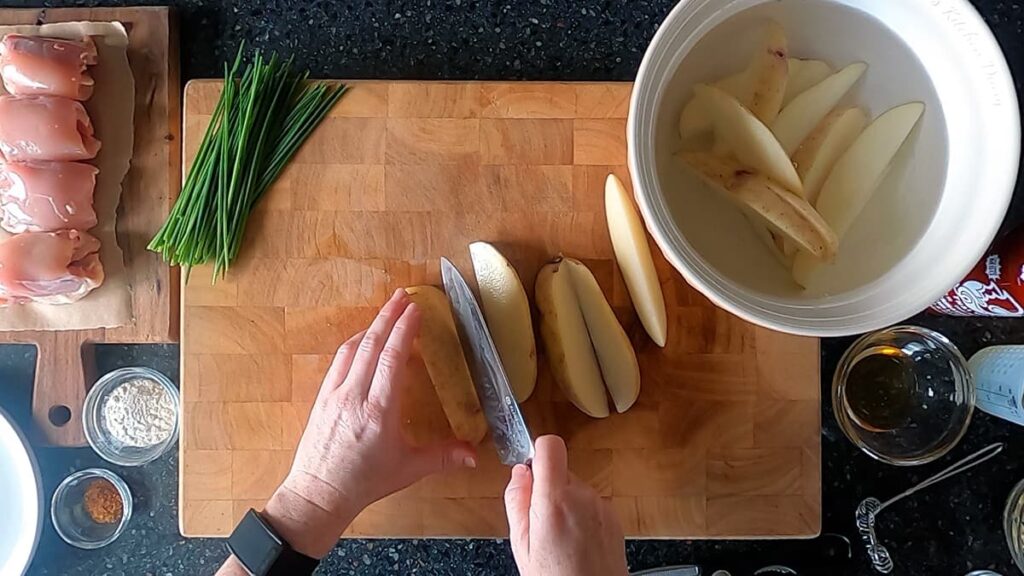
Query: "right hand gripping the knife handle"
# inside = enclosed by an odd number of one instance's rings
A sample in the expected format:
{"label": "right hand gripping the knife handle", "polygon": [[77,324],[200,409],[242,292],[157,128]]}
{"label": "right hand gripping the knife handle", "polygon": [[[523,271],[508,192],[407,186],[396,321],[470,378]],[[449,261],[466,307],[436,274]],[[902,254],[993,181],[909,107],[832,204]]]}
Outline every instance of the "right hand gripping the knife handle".
{"label": "right hand gripping the knife handle", "polygon": [[512,556],[522,576],[624,576],[626,540],[614,510],[568,471],[565,443],[535,443],[534,469],[512,468],[505,489]]}

